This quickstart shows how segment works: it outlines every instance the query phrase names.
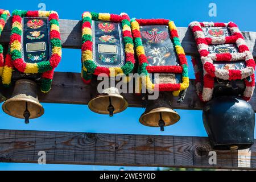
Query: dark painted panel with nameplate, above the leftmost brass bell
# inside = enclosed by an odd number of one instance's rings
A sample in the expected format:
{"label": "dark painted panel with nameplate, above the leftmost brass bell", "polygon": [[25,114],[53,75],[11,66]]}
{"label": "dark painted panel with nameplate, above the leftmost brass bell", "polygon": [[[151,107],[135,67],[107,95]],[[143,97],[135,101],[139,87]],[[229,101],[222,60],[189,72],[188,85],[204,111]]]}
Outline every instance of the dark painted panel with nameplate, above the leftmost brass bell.
{"label": "dark painted panel with nameplate, above the leftmost brass bell", "polygon": [[51,56],[47,17],[22,18],[22,57],[26,63],[48,61]]}

